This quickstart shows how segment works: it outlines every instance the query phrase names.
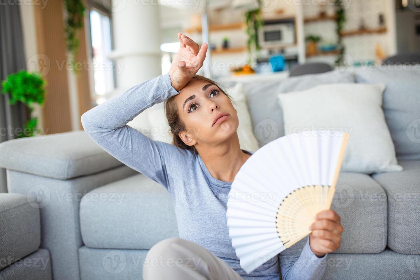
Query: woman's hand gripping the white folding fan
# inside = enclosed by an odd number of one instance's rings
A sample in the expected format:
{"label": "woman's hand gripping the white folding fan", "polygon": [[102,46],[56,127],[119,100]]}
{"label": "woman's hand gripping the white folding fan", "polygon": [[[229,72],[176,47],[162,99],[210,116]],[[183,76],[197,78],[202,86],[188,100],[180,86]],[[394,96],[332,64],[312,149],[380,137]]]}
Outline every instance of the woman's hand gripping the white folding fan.
{"label": "woman's hand gripping the white folding fan", "polygon": [[324,210],[315,216],[316,222],[310,225],[309,245],[312,252],[322,258],[325,254],[340,248],[341,225],[340,216],[333,210]]}

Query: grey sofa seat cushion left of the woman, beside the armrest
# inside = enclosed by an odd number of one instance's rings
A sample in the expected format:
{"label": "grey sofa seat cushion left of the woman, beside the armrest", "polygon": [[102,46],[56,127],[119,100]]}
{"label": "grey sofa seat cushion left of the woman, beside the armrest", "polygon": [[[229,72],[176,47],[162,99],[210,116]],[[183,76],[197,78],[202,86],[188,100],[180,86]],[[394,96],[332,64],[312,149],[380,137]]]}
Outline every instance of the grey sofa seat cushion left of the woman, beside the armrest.
{"label": "grey sofa seat cushion left of the woman, beside the armrest", "polygon": [[91,248],[150,249],[178,237],[171,196],[143,174],[95,188],[80,202],[84,244]]}

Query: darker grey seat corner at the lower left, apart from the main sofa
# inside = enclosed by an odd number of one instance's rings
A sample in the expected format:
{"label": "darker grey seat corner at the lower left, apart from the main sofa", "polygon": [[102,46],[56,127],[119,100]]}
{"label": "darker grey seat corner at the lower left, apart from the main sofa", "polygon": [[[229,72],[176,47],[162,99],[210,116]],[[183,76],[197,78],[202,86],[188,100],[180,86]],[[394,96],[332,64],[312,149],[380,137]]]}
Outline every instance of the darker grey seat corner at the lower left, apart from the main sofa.
{"label": "darker grey seat corner at the lower left, apart from the main sofa", "polygon": [[23,194],[0,194],[0,279],[51,280],[51,258],[41,244],[37,201]]}

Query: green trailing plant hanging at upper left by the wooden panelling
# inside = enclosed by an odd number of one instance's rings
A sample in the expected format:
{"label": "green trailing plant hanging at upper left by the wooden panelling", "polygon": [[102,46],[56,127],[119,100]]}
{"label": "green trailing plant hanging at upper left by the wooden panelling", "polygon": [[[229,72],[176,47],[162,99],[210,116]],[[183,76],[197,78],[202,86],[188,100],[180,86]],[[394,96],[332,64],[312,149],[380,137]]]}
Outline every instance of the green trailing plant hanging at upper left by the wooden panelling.
{"label": "green trailing plant hanging at upper left by the wooden panelling", "polygon": [[77,50],[79,48],[79,39],[76,38],[77,31],[83,27],[84,20],[84,4],[82,0],[64,0],[66,7],[66,46],[70,55],[73,71],[76,71],[74,64],[76,63]]}

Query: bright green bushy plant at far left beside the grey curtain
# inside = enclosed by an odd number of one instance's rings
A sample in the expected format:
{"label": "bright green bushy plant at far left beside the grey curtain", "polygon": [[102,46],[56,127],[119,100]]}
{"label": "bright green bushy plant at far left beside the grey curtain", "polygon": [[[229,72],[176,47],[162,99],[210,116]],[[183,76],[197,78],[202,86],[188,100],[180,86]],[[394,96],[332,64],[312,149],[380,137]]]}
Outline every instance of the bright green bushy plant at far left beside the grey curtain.
{"label": "bright green bushy plant at far left beside the grey curtain", "polygon": [[7,76],[2,82],[2,93],[9,95],[9,104],[16,105],[18,102],[26,105],[27,122],[24,124],[21,133],[17,138],[34,136],[34,129],[37,127],[38,118],[31,117],[33,103],[42,105],[45,100],[45,81],[35,72],[29,73],[25,70]]}

